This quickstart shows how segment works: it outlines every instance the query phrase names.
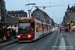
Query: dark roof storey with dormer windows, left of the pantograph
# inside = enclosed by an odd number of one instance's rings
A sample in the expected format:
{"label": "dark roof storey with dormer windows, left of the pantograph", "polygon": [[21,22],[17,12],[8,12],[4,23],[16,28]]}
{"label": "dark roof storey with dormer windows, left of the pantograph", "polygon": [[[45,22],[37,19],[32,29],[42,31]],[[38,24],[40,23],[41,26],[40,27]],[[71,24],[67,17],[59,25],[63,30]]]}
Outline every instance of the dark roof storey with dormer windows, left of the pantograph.
{"label": "dark roof storey with dormer windows, left of the pantograph", "polygon": [[27,17],[27,13],[24,12],[24,10],[7,11],[7,17],[12,17],[12,18],[20,19],[21,17]]}

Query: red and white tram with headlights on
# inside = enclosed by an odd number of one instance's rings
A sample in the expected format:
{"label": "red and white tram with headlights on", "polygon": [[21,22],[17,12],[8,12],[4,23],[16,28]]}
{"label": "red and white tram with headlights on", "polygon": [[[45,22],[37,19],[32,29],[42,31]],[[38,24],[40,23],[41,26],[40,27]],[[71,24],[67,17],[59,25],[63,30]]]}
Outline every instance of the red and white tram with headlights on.
{"label": "red and white tram with headlights on", "polygon": [[50,33],[50,24],[33,17],[22,17],[18,26],[18,42],[34,41]]}

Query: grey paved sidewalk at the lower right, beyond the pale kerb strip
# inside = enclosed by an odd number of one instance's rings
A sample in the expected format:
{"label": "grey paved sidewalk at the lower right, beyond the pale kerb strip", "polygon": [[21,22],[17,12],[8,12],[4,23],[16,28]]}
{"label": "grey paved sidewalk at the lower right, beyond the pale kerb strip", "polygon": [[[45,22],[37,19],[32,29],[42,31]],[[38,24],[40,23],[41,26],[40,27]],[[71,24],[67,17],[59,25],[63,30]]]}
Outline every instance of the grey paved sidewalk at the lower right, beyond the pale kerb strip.
{"label": "grey paved sidewalk at the lower right, beyond the pale kerb strip", "polygon": [[75,50],[75,32],[74,33],[62,32],[62,35],[65,39],[65,44],[67,46],[66,49]]}

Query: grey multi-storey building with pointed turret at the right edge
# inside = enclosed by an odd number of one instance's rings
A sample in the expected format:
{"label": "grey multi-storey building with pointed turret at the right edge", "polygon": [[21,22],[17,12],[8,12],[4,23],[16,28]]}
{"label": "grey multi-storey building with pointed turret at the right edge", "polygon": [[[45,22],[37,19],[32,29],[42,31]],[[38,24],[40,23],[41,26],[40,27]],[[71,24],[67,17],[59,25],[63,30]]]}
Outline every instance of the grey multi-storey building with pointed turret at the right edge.
{"label": "grey multi-storey building with pointed turret at the right edge", "polygon": [[68,5],[67,11],[65,12],[65,22],[68,24],[69,21],[75,25],[75,6],[70,8]]}

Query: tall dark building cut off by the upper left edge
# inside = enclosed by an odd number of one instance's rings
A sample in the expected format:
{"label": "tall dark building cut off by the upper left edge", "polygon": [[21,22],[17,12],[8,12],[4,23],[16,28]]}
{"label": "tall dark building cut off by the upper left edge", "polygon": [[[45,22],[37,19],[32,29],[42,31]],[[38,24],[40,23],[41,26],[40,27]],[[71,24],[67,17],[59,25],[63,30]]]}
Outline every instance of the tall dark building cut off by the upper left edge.
{"label": "tall dark building cut off by the upper left edge", "polygon": [[0,0],[0,22],[4,22],[5,19],[5,1],[4,0]]}

